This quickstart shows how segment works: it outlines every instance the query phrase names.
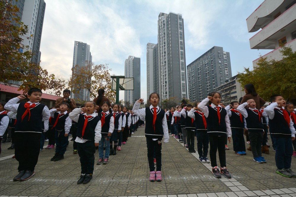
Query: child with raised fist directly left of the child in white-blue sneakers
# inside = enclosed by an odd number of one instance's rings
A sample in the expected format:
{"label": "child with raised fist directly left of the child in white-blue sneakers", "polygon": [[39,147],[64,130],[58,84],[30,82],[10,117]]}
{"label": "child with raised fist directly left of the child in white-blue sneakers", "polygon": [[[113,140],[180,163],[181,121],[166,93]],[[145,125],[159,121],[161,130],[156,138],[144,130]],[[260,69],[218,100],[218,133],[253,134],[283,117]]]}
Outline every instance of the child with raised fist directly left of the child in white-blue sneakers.
{"label": "child with raised fist directly left of the child in white-blue sneakers", "polygon": [[192,105],[189,103],[181,110],[181,115],[185,118],[185,128],[187,136],[188,151],[195,152],[194,149],[194,135],[195,135],[195,122],[193,118],[188,116],[188,112],[192,109]]}

